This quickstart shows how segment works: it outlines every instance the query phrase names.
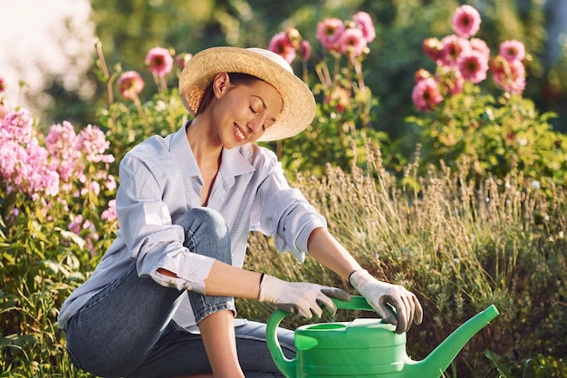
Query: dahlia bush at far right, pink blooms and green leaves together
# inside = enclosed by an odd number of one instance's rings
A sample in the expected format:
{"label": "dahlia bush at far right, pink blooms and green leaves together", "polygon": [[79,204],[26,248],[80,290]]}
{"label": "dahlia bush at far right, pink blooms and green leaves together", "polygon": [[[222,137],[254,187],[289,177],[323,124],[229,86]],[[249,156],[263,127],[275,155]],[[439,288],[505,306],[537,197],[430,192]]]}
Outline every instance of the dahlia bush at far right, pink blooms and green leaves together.
{"label": "dahlia bush at far right, pink blooms and green leaves together", "polygon": [[[481,16],[474,7],[460,6],[452,21],[456,34],[423,43],[435,71],[415,74],[411,98],[422,113],[407,120],[422,129],[421,159],[434,165],[444,160],[452,168],[465,162],[473,177],[489,172],[504,178],[517,166],[528,178],[565,182],[567,139],[548,123],[553,113],[541,114],[522,97],[529,62],[524,44],[505,41],[491,57],[475,37]],[[495,88],[497,97],[490,94]]]}

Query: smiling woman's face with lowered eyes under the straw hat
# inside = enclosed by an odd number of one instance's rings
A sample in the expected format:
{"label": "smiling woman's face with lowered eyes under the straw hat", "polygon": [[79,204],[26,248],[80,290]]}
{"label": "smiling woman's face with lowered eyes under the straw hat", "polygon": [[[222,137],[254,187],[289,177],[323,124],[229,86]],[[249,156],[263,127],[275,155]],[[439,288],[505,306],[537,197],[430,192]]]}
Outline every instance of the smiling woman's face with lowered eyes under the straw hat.
{"label": "smiling woman's face with lowered eyes under the straw hat", "polygon": [[219,74],[213,85],[214,125],[221,144],[227,149],[256,141],[282,111],[280,93],[267,82],[258,80],[249,85],[235,85],[227,74]]}

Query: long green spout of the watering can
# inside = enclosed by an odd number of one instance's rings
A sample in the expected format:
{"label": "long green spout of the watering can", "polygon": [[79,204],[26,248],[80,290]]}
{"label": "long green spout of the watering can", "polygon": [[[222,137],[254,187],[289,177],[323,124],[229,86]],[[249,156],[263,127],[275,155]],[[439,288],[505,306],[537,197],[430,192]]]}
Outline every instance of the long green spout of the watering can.
{"label": "long green spout of the watering can", "polygon": [[458,327],[452,334],[437,346],[426,358],[413,361],[408,358],[404,366],[406,377],[422,376],[424,378],[438,378],[455,359],[465,344],[485,325],[498,316],[495,305],[490,305],[484,311],[476,314],[465,324]]}

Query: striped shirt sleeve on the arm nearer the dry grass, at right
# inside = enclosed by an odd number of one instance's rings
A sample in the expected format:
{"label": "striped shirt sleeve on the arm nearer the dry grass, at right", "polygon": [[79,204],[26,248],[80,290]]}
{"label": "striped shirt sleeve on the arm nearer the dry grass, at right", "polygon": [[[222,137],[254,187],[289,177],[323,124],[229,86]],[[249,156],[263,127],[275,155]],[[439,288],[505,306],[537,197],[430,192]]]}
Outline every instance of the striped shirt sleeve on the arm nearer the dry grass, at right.
{"label": "striped shirt sleeve on the arm nearer the dry grass, at right", "polygon": [[278,251],[290,251],[303,263],[309,236],[315,228],[327,228],[327,223],[299,189],[290,187],[281,163],[275,162],[270,168],[256,201],[261,208],[260,231],[274,236]]}

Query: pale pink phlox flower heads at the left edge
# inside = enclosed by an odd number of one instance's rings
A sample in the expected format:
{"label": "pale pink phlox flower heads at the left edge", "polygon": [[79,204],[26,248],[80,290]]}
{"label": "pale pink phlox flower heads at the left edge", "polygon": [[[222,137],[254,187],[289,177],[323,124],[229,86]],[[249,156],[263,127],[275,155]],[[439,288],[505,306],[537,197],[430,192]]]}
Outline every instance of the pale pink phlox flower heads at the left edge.
{"label": "pale pink phlox flower heads at the left edge", "polygon": [[[77,135],[68,121],[54,124],[44,144],[40,145],[26,109],[9,111],[0,120],[0,178],[8,192],[22,191],[32,199],[55,196],[71,190],[77,181],[87,185],[85,161],[105,163],[107,167],[114,161],[111,154],[104,153],[109,141],[92,125]],[[98,195],[98,181],[104,182],[107,189],[116,188],[113,176],[97,170],[85,189]]]}

